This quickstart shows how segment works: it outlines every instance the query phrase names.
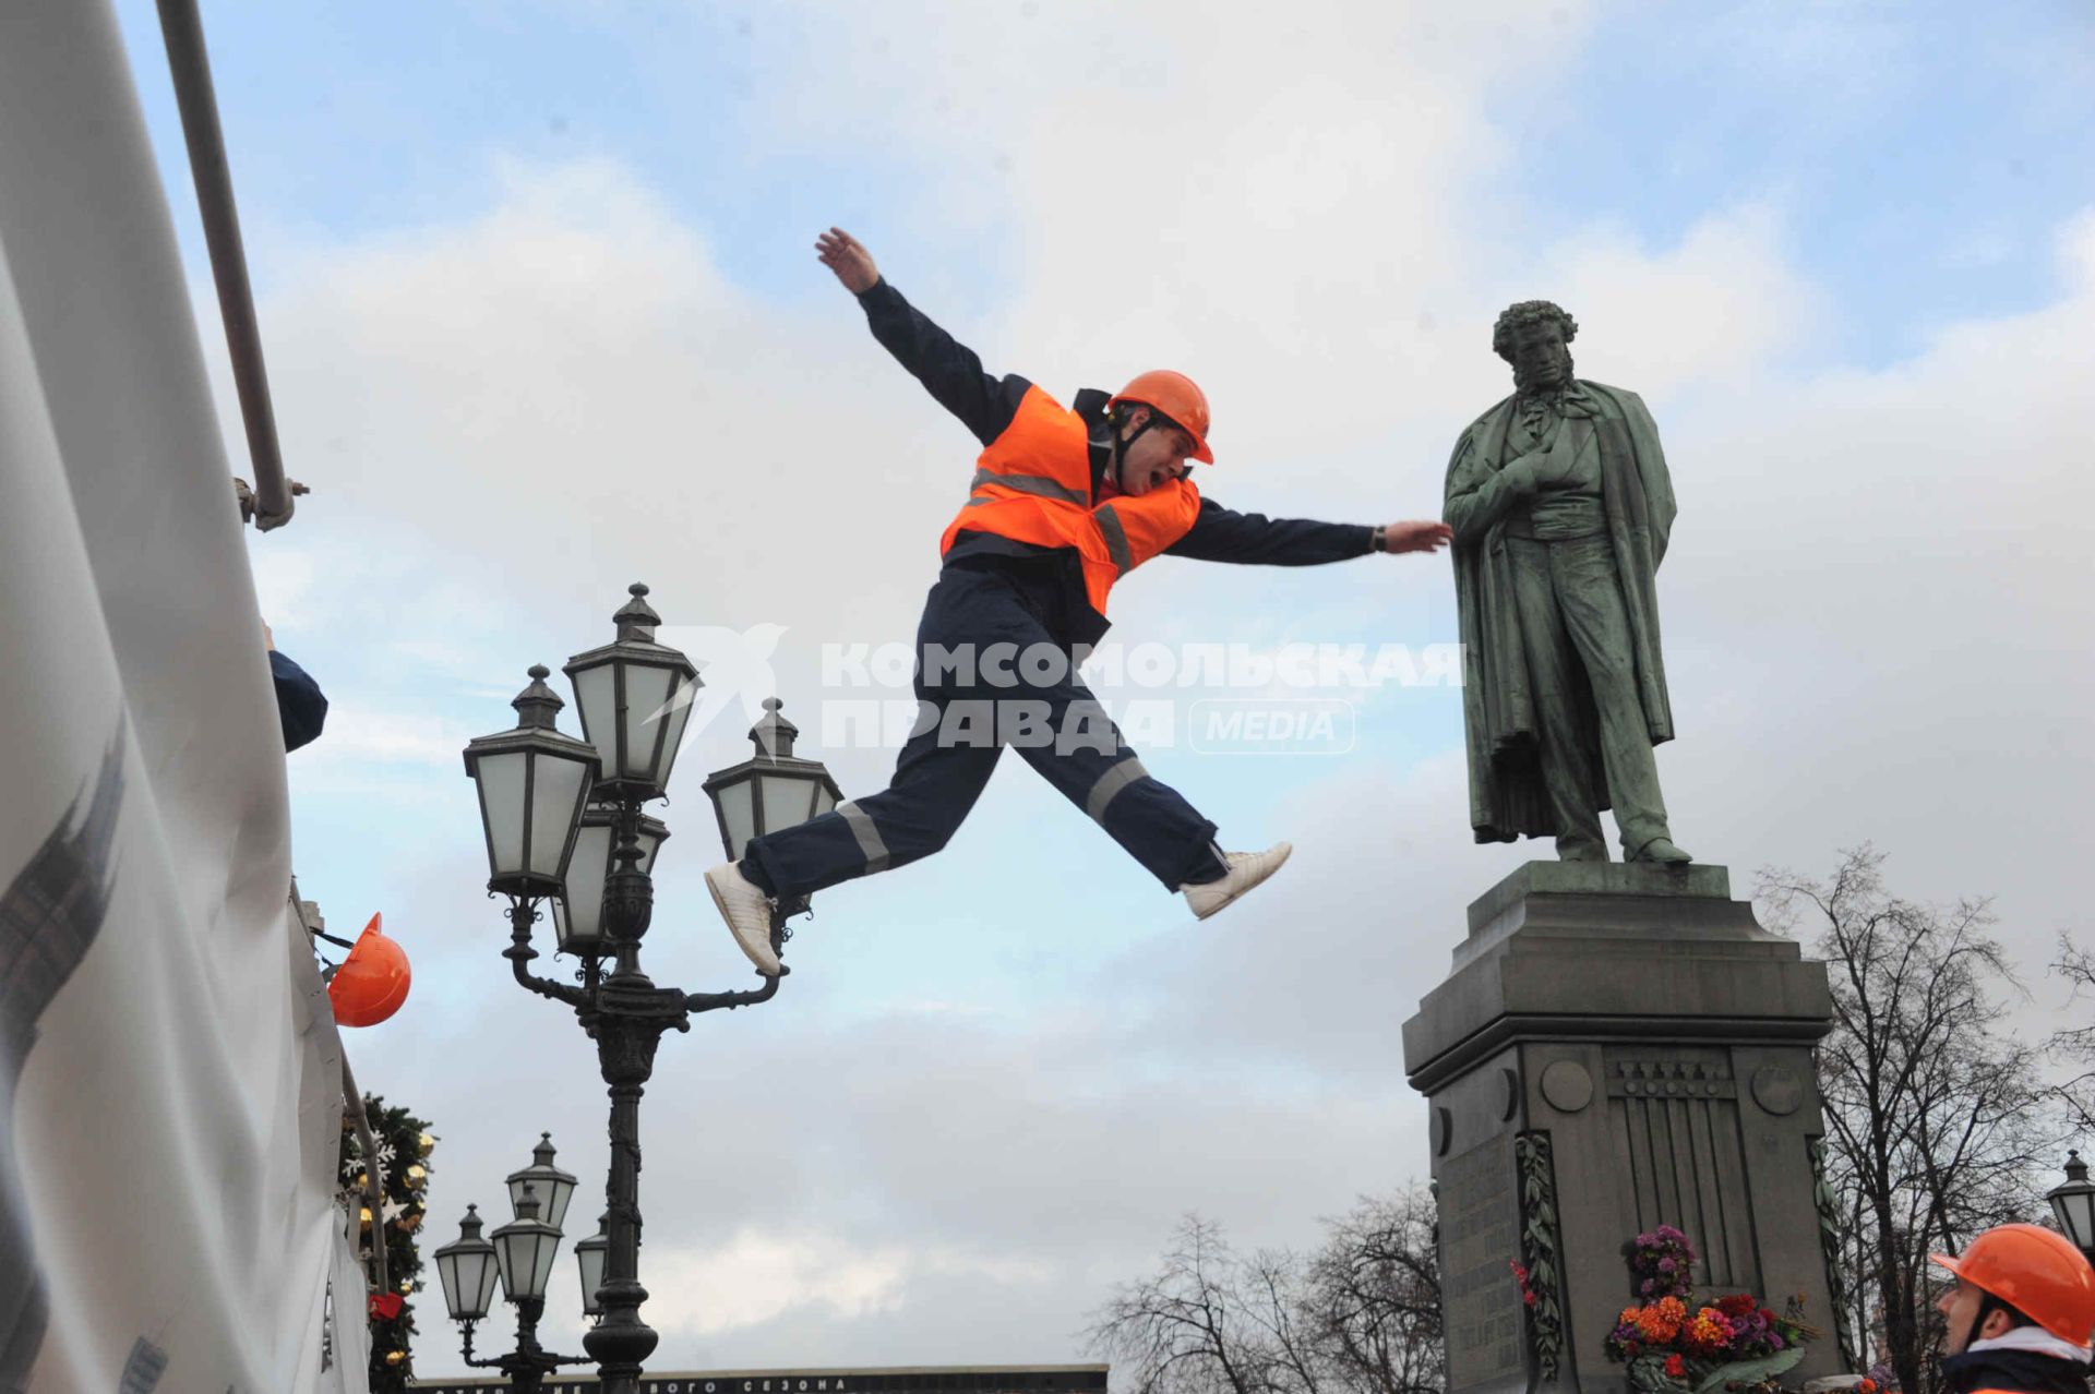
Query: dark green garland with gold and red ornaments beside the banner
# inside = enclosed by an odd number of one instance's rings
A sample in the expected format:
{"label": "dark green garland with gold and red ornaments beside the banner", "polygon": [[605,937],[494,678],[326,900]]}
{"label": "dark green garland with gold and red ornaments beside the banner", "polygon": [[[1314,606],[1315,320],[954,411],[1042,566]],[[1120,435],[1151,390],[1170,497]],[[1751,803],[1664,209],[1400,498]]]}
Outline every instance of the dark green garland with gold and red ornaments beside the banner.
{"label": "dark green garland with gold and red ornaments beside the banner", "polygon": [[371,1137],[377,1143],[381,1189],[381,1212],[371,1214],[365,1195],[365,1155],[356,1141],[356,1130],[341,1124],[341,1208],[360,1220],[358,1256],[365,1260],[365,1281],[373,1281],[373,1245],[385,1245],[385,1277],[392,1291],[373,1291],[367,1298],[371,1317],[371,1390],[373,1394],[400,1394],[415,1373],[411,1342],[415,1337],[415,1304],[411,1298],[423,1289],[421,1252],[415,1235],[421,1231],[423,1195],[429,1189],[429,1151],[436,1134],[429,1120],[415,1118],[406,1109],[388,1107],[379,1095],[365,1095],[365,1118],[371,1122]]}

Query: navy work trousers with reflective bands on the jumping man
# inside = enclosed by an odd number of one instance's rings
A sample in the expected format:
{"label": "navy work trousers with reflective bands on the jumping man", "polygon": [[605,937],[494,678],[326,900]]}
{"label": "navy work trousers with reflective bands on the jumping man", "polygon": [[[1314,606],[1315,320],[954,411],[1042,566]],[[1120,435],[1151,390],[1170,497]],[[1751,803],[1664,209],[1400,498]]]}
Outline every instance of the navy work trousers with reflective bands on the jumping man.
{"label": "navy work trousers with reflective bands on the jumping man", "polygon": [[918,624],[916,695],[918,722],[888,787],[750,839],[750,879],[775,896],[809,896],[930,856],[966,820],[1006,745],[1167,890],[1223,875],[1215,825],[1142,768],[1071,649],[1008,576],[939,574]]}

